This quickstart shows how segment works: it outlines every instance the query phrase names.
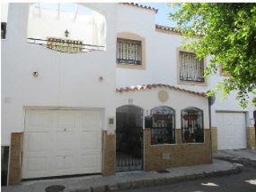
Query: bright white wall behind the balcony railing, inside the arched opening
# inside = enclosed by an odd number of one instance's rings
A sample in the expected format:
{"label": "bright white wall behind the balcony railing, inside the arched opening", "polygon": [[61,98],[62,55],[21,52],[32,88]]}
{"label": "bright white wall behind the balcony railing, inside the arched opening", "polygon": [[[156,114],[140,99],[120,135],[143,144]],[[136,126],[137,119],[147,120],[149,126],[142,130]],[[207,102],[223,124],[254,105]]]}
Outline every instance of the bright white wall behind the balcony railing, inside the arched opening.
{"label": "bright white wall behind the balcony railing, inside the arched opening", "polygon": [[[104,16],[93,10],[87,15],[77,14],[76,18],[74,15],[75,11],[63,12],[60,10],[58,14],[58,10],[38,9],[30,5],[27,37],[64,38],[79,40],[91,45],[106,45],[106,19]],[[66,30],[70,32],[68,38],[64,33]]]}

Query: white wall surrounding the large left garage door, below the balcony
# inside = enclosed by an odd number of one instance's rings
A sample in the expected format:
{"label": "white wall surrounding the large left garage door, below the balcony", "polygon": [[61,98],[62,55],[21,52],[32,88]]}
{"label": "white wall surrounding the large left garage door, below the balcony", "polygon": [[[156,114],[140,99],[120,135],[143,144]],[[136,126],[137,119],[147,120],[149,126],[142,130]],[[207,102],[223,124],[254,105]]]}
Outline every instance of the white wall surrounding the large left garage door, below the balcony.
{"label": "white wall surrounding the large left garage door, below the balcony", "polygon": [[106,51],[62,54],[27,43],[29,3],[10,3],[1,49],[2,145],[10,144],[11,132],[23,131],[26,106],[101,108],[104,130],[115,117],[116,5],[88,5],[106,16]]}

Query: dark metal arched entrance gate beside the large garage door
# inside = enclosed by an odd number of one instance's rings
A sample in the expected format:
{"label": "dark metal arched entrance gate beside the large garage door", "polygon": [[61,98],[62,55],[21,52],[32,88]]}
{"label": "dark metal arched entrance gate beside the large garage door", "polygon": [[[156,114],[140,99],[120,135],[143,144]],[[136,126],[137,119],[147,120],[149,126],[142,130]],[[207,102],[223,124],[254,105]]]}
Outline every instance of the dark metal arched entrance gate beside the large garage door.
{"label": "dark metal arched entrance gate beside the large garage door", "polygon": [[143,110],[138,106],[117,109],[116,172],[142,170]]}

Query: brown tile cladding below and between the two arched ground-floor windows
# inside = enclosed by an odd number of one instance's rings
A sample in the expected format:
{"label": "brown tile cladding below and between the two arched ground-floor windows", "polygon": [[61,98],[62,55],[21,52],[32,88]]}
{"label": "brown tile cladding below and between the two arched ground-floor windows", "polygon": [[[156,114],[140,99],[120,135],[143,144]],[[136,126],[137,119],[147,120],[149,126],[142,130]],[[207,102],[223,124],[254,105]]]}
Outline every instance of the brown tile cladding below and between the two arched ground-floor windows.
{"label": "brown tile cladding below and between the two arched ground-floor windows", "polygon": [[[144,130],[144,169],[161,170],[173,166],[192,166],[210,163],[210,130],[205,129],[205,143],[182,143],[181,130],[176,130],[177,144],[150,144],[150,129]],[[170,154],[170,159],[163,159],[162,154]]]}

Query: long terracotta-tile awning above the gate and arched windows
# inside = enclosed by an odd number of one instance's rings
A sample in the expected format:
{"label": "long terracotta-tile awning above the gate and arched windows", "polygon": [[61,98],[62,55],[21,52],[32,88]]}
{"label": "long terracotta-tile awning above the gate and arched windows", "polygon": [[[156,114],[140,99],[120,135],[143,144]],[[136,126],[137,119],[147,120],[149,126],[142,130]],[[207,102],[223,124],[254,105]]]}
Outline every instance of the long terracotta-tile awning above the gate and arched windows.
{"label": "long terracotta-tile awning above the gate and arched windows", "polygon": [[195,94],[201,97],[206,97],[206,93],[203,92],[196,92],[196,91],[192,91],[192,90],[185,90],[185,89],[181,89],[179,87],[176,86],[170,86],[167,84],[162,84],[162,83],[158,83],[158,84],[147,84],[147,85],[142,85],[142,86],[130,86],[130,87],[126,87],[126,88],[117,88],[116,91],[118,93],[122,93],[122,92],[129,92],[129,91],[138,91],[138,90],[151,90],[154,88],[167,88],[167,89],[171,89],[171,90],[178,90],[178,91],[183,91],[186,92],[188,94]]}

